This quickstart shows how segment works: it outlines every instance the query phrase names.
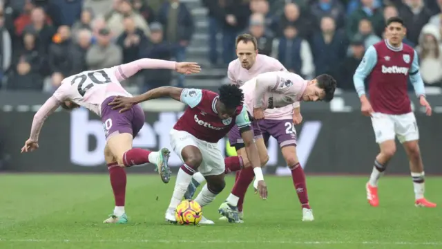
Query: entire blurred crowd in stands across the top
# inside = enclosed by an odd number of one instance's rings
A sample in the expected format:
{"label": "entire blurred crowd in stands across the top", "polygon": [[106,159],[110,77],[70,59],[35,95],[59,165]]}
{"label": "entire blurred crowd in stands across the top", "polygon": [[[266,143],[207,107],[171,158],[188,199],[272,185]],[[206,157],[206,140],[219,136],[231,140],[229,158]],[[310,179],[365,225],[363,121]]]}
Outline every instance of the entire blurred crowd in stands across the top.
{"label": "entire blurred crowd in stands across the top", "polygon": [[[289,71],[306,78],[329,73],[340,89],[354,91],[352,76],[365,49],[385,37],[388,18],[399,16],[425,84],[441,86],[442,0],[200,1],[208,9],[213,67],[226,70],[236,58],[236,35],[251,33],[259,53],[276,57]],[[6,90],[52,92],[68,75],[143,57],[183,61],[199,32],[180,0],[0,3],[0,86]],[[142,71],[124,84],[145,91],[171,80],[170,71]],[[178,77],[177,84],[183,82]]]}

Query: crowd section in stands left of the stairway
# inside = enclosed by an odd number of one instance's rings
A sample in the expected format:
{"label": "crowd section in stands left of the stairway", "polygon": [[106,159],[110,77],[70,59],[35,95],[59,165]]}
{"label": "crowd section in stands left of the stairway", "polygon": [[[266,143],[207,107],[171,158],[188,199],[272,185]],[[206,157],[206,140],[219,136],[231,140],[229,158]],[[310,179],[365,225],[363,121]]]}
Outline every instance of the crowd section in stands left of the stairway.
{"label": "crowd section in stands left of the stairway", "polygon": [[[52,92],[69,75],[143,57],[182,61],[195,30],[178,0],[1,1],[0,78],[6,90]],[[143,91],[171,78],[171,71],[146,70],[124,83]]]}

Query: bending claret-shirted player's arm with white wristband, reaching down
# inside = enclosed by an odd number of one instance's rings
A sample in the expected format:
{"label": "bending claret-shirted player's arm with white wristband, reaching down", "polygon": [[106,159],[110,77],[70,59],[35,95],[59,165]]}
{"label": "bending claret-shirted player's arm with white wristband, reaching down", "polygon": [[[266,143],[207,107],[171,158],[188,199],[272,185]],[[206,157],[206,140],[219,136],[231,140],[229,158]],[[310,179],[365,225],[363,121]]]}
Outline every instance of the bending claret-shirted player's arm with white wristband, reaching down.
{"label": "bending claret-shirted player's arm with white wristband, reaching down", "polygon": [[236,116],[235,122],[238,125],[238,129],[240,129],[241,137],[242,140],[244,140],[244,145],[246,147],[247,158],[249,158],[251,167],[253,167],[253,172],[255,172],[256,180],[258,181],[260,198],[267,199],[267,185],[265,184],[264,176],[262,175],[260,155],[258,154],[258,148],[253,139],[253,131],[251,131],[251,122],[246,107],[243,107],[240,115]]}

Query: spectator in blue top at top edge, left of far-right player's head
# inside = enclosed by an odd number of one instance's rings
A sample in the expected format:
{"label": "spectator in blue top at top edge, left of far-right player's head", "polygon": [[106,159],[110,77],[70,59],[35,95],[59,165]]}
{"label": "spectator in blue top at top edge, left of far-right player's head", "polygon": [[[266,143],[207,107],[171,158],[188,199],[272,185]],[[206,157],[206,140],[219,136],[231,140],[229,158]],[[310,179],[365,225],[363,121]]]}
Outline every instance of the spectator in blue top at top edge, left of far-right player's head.
{"label": "spectator in blue top at top edge, left of far-right player's head", "polygon": [[355,10],[347,20],[347,37],[354,37],[358,33],[358,25],[361,19],[369,19],[372,22],[374,33],[382,35],[384,30],[383,10],[376,7],[374,0],[361,0],[362,6]]}

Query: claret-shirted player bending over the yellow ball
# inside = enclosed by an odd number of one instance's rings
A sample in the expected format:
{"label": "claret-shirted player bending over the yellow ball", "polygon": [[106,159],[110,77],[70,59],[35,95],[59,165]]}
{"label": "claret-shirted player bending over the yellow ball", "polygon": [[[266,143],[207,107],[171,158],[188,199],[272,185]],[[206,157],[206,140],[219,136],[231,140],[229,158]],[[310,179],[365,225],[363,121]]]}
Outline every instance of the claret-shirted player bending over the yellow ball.
{"label": "claret-shirted player bending over the yellow ball", "polygon": [[[249,113],[243,103],[242,90],[238,86],[224,85],[221,86],[218,95],[207,90],[163,86],[133,98],[117,97],[111,104],[115,104],[117,108],[124,107],[122,111],[125,111],[133,104],[164,96],[169,96],[189,106],[170,133],[171,146],[184,165],[180,167],[177,174],[171,203],[166,210],[166,221],[176,223],[175,209],[182,201],[195,172],[199,171],[207,181],[195,199],[202,207],[211,203],[224,189],[226,169],[224,158],[218,148],[218,141],[224,138],[235,125],[238,126],[244,140],[247,158],[258,180],[260,197],[267,199],[267,186],[262,176],[258,149],[253,141],[253,128],[249,121]],[[228,207],[222,215],[227,216],[231,222],[239,221],[236,207]],[[200,223],[213,224],[213,221],[203,217]]]}

